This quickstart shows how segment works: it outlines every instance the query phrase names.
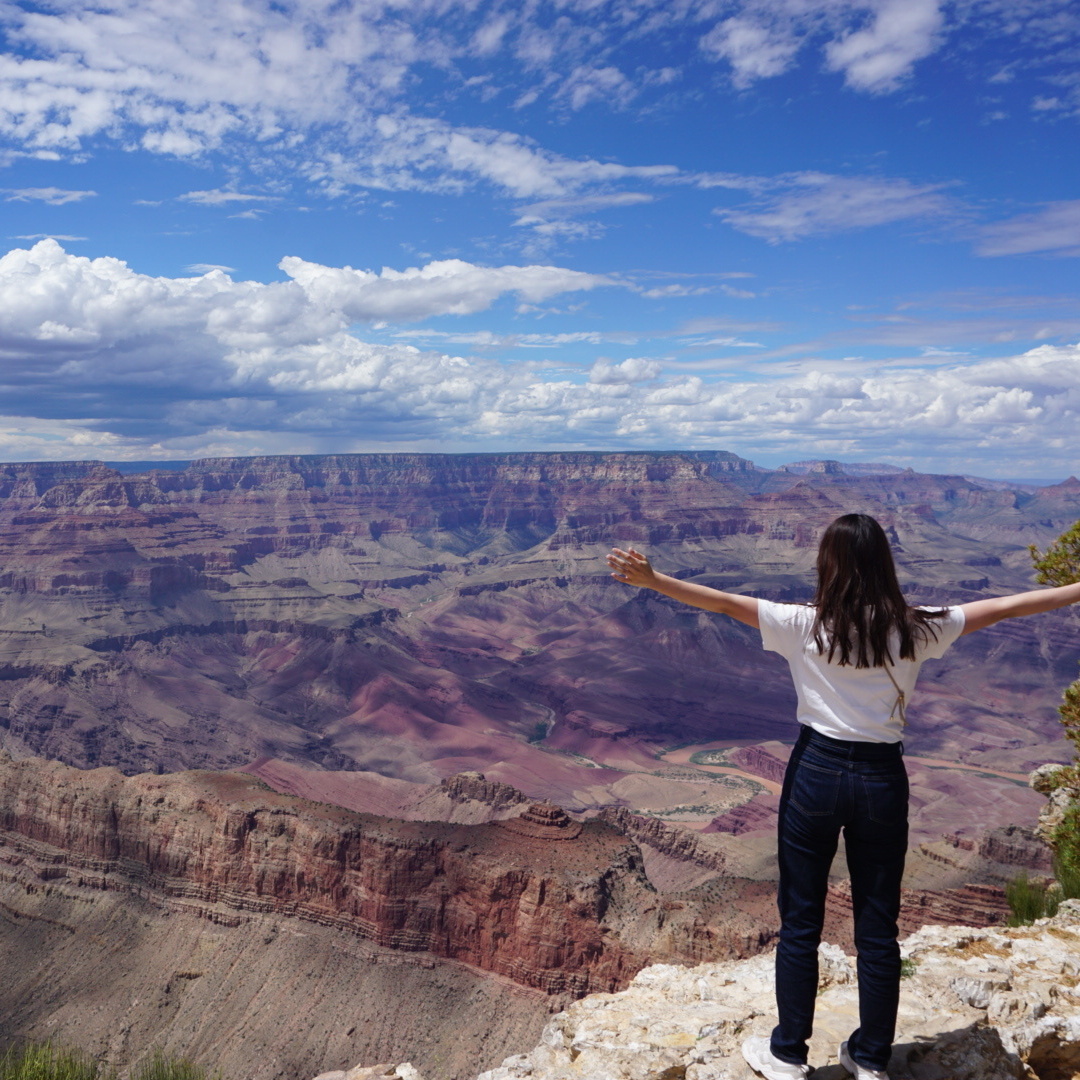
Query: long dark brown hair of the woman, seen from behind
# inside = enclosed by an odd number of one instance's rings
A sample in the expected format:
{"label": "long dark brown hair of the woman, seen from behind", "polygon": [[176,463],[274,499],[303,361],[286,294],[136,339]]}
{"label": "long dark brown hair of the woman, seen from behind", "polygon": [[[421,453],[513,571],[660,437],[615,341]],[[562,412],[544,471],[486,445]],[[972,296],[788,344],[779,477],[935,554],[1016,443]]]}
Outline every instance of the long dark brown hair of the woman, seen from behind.
{"label": "long dark brown hair of the woman, seen from behind", "polygon": [[893,662],[889,638],[900,640],[900,659],[937,637],[932,625],[944,610],[923,611],[904,599],[885,529],[868,514],[845,514],[825,529],[818,548],[813,640],[829,663],[885,667]]}

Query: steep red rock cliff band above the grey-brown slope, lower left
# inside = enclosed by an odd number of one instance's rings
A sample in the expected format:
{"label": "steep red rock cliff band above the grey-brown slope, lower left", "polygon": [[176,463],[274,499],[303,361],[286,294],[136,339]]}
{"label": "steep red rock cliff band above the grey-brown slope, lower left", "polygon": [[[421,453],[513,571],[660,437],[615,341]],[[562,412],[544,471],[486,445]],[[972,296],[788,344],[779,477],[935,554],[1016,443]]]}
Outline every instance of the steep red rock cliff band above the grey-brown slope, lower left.
{"label": "steep red rock cliff band above the grey-brown slope, lower left", "polygon": [[0,757],[5,861],[32,853],[82,885],[291,915],[552,994],[625,985],[648,960],[632,939],[658,924],[639,852],[557,808],[534,818],[561,838],[353,813],[246,774]]}

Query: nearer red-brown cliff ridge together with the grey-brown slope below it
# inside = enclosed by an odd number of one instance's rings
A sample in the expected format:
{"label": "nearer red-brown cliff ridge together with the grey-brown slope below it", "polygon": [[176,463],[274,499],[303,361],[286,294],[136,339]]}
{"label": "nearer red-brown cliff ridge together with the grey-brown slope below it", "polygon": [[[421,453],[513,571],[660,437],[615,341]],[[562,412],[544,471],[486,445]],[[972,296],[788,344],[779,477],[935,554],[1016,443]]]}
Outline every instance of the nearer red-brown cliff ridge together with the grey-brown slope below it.
{"label": "nearer red-brown cliff ridge together with the grey-brown slope below it", "polygon": [[[775,941],[771,885],[730,873],[708,837],[623,808],[576,821],[476,773],[426,805],[472,823],[360,813],[244,772],[0,755],[0,1041],[76,1042],[117,1067],[161,1048],[255,1080],[408,1058],[457,1080],[650,963]],[[1035,845],[955,839],[962,856],[928,854],[964,879]],[[650,868],[673,865],[697,878],[658,888]],[[902,923],[1003,912],[1000,887],[908,889]],[[850,949],[849,923],[841,881],[827,934]]]}

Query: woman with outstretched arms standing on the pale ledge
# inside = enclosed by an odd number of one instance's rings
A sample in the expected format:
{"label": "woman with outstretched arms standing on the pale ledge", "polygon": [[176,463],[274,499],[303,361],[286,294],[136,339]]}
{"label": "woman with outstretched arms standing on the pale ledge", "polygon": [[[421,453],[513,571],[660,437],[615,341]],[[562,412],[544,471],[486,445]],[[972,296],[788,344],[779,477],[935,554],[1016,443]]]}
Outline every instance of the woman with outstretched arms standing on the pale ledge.
{"label": "woman with outstretched arms standing on the pale ledge", "polygon": [[962,634],[1080,603],[1080,583],[975,600],[940,610],[910,607],[881,526],[838,517],[818,549],[809,605],[774,604],[658,573],[639,552],[616,548],[612,577],[761,631],[787,661],[800,732],[780,796],[780,944],[772,1037],[743,1043],[766,1080],[810,1075],[807,1042],[818,994],[818,944],[828,870],[843,829],[859,951],[860,1026],[840,1044],[856,1080],[887,1080],[900,1000],[900,882],[907,853],[904,708],[924,660]]}

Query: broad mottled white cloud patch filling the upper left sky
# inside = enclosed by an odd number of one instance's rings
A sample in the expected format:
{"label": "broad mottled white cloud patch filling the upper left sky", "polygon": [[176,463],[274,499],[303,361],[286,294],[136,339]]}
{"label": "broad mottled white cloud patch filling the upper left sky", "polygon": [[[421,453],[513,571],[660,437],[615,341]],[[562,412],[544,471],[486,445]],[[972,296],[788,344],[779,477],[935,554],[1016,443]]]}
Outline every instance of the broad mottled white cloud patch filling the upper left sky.
{"label": "broad mottled white cloud patch filling the upper left sky", "polygon": [[[402,106],[411,65],[494,51],[508,28],[496,16],[458,40],[468,14],[441,24],[445,14],[437,2],[420,2],[406,16],[378,0],[0,8],[0,25],[28,54],[0,66],[0,132],[32,150],[78,150],[94,138],[174,157],[242,148],[245,161],[302,163],[332,190],[484,181],[530,198],[675,172],[570,160],[511,133],[411,116]],[[596,43],[595,35],[566,32]],[[558,85],[575,108],[624,104],[634,93],[609,64],[579,64]],[[238,192],[198,197],[189,195],[207,204],[240,200]]]}

